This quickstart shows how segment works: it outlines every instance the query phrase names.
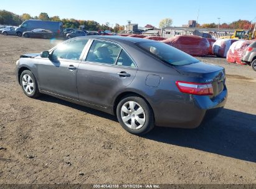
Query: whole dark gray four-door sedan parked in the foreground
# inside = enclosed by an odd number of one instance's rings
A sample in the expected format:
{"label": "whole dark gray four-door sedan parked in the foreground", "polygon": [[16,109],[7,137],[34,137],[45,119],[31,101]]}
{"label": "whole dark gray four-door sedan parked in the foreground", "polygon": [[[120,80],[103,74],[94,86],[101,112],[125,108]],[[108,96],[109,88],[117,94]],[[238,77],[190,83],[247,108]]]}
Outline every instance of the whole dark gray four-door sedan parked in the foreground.
{"label": "whole dark gray four-door sedan parked in the foreground", "polygon": [[16,64],[27,96],[49,94],[113,114],[133,134],[155,125],[197,127],[227,99],[224,68],[147,39],[77,37]]}

